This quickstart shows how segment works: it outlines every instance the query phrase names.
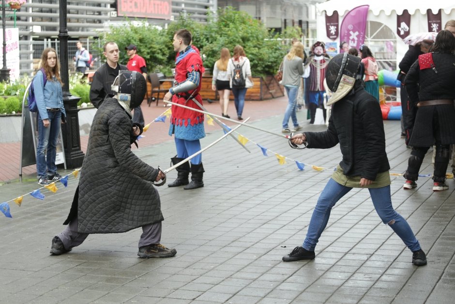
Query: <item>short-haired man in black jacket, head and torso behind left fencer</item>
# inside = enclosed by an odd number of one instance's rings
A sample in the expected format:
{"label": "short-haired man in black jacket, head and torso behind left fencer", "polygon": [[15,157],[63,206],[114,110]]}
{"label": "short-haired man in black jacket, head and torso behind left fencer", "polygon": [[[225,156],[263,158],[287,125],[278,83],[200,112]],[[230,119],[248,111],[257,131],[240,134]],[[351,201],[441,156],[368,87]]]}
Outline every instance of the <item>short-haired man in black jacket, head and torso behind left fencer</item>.
{"label": "short-haired man in black jacket, head and torso behind left fencer", "polygon": [[115,78],[119,76],[119,71],[128,69],[125,65],[118,64],[120,51],[115,42],[106,42],[103,49],[103,55],[106,56],[106,63],[101,65],[95,72],[90,86],[90,101],[97,109],[106,96],[114,96],[111,85]]}

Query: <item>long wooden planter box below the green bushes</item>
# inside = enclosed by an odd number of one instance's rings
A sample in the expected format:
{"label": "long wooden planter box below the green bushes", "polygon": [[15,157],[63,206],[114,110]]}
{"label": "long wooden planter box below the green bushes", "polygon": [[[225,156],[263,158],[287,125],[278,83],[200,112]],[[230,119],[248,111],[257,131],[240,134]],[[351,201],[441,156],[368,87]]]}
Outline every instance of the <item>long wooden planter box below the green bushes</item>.
{"label": "long wooden planter box below the green bushes", "polygon": [[[253,77],[254,86],[246,91],[245,100],[266,100],[284,96],[284,89],[273,76]],[[170,88],[170,82],[163,82],[161,88]],[[151,86],[149,86],[149,92]],[[150,94],[150,93],[149,93]],[[218,99],[218,91],[212,90],[212,76],[202,76],[200,95],[202,99]],[[231,94],[230,99],[234,99]]]}

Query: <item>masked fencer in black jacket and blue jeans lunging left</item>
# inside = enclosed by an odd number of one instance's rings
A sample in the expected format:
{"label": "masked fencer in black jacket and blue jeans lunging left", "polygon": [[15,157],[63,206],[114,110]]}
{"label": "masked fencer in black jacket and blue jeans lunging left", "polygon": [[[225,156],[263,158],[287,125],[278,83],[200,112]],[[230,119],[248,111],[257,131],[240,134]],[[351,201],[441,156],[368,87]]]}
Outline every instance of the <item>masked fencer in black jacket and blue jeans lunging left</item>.
{"label": "masked fencer in black jacket and blue jeans lunging left", "polygon": [[336,55],[327,65],[326,82],[334,92],[329,127],[323,132],[305,132],[291,138],[294,144],[326,149],[340,144],[343,159],[325,186],[313,211],[302,246],[295,247],[283,261],[315,258],[315,247],[329,221],[335,203],[352,188],[368,188],[382,222],[388,224],[413,252],[412,263],[426,265],[425,253],[408,222],[392,207],[389,161],[379,103],[364,91],[358,76],[360,58]]}

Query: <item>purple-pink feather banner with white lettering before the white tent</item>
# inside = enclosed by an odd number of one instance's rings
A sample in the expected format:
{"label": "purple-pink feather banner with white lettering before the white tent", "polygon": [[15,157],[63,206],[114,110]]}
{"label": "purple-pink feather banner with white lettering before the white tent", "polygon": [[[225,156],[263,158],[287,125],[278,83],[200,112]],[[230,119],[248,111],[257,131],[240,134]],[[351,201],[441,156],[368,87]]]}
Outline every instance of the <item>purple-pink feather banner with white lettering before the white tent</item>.
{"label": "purple-pink feather banner with white lettering before the white tent", "polygon": [[348,42],[349,48],[359,49],[364,43],[366,15],[368,15],[369,7],[369,5],[361,5],[353,8],[341,22],[340,42]]}

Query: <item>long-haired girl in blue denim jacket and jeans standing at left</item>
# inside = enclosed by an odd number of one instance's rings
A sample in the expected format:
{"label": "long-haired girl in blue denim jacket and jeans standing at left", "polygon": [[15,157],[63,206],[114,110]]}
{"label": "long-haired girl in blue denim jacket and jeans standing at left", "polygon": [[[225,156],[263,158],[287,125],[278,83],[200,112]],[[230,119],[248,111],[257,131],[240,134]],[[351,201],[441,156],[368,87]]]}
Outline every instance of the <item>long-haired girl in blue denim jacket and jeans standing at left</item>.
{"label": "long-haired girl in blue denim jacket and jeans standing at left", "polygon": [[45,186],[61,178],[57,173],[55,156],[60,125],[65,122],[66,113],[61,91],[60,64],[55,49],[46,48],[43,51],[40,65],[46,74],[46,84],[44,85],[44,75],[41,70],[36,73],[32,81],[38,106],[36,171],[38,184]]}

